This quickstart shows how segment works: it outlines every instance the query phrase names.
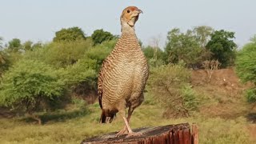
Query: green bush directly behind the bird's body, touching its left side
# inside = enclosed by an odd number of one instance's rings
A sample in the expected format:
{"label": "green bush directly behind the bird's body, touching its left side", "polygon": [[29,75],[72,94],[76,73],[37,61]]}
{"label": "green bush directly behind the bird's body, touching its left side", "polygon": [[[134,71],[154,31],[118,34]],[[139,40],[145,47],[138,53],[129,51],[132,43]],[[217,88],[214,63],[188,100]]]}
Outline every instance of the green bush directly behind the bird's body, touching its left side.
{"label": "green bush directly behind the bird's body, touching its left side", "polygon": [[63,81],[70,87],[73,97],[83,98],[88,103],[95,102],[98,71],[103,60],[114,48],[115,42],[103,42],[102,45],[91,47],[78,62],[63,69]]}

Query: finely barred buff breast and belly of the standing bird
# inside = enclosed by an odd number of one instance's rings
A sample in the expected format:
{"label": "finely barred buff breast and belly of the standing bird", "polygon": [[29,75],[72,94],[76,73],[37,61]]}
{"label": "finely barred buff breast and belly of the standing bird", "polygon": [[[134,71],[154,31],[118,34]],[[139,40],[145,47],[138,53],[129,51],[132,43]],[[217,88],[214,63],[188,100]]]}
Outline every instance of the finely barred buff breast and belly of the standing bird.
{"label": "finely barred buff breast and belly of the standing bird", "polygon": [[142,94],[148,78],[146,58],[133,35],[122,35],[106,58],[103,78],[102,106],[114,106],[136,93]]}

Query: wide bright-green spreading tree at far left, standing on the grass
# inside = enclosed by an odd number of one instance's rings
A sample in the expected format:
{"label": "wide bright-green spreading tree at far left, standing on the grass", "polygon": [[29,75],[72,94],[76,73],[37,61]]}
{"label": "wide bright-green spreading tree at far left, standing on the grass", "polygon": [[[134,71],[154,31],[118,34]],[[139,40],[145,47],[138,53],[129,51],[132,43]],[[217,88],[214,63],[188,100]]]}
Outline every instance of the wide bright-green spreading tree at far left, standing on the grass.
{"label": "wide bright-green spreading tree at far left, standing on the grass", "polygon": [[25,112],[41,124],[34,112],[62,96],[65,83],[59,79],[58,71],[42,62],[19,61],[2,76],[0,106]]}

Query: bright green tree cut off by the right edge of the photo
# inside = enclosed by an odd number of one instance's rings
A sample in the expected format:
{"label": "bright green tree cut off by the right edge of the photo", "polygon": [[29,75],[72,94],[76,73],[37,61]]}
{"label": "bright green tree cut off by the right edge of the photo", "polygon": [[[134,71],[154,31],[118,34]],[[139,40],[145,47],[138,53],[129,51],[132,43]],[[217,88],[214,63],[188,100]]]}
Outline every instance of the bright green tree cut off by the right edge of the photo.
{"label": "bright green tree cut off by the right edge of the photo", "polygon": [[256,38],[251,38],[251,42],[243,46],[238,51],[235,62],[236,72],[242,82],[253,82],[254,88],[247,90],[249,102],[256,102]]}

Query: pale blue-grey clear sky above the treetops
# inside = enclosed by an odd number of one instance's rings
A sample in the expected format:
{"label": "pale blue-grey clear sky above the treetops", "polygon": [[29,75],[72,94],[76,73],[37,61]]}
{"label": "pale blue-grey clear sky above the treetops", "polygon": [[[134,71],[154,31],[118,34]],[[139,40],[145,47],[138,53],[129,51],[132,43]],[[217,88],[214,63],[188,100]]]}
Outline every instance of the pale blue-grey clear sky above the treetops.
{"label": "pale blue-grey clear sky above the treetops", "polygon": [[0,37],[50,42],[56,31],[72,26],[87,36],[97,29],[120,34],[119,18],[127,6],[143,11],[135,25],[143,45],[158,38],[164,47],[173,28],[234,31],[239,47],[256,34],[255,0],[0,0]]}

